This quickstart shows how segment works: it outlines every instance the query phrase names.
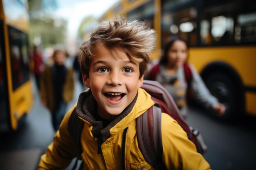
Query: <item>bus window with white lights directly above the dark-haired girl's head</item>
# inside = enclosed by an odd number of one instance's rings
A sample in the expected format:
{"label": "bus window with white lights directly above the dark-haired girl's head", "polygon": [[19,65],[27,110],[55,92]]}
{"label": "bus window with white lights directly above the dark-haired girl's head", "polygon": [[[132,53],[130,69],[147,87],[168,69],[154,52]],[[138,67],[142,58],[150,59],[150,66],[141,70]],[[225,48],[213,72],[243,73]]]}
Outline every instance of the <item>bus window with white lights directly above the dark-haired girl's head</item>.
{"label": "bus window with white lights directly above the dark-haired girl's head", "polygon": [[191,46],[197,44],[196,40],[196,17],[197,11],[194,7],[179,11],[163,11],[162,13],[162,45],[166,44],[168,38],[180,35],[188,40]]}

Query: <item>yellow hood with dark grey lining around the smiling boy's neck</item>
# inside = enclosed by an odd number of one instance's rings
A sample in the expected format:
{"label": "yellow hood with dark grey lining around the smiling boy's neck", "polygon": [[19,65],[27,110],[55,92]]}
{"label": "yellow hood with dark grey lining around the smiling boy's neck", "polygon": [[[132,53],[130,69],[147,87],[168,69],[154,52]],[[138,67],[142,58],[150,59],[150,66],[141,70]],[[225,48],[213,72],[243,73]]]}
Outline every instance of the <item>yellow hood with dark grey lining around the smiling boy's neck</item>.
{"label": "yellow hood with dark grey lining around the smiling boy's neck", "polygon": [[97,112],[97,102],[90,90],[83,92],[79,96],[76,106],[76,114],[90,126],[93,137],[97,137],[99,142],[104,142],[109,137],[115,136],[119,131],[123,131],[133,120],[144,113],[149,107],[154,105],[151,96],[144,89],[139,88],[135,99],[122,113],[103,129],[102,121],[96,121],[94,114]]}

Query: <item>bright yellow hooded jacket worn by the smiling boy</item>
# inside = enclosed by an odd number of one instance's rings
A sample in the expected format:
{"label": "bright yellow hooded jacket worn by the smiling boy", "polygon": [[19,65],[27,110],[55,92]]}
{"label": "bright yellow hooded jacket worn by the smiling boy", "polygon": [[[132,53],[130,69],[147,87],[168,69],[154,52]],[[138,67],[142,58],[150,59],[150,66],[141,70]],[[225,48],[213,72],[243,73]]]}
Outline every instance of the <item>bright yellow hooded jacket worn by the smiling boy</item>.
{"label": "bright yellow hooded jacket worn by the smiling boy", "polygon": [[[85,95],[86,94],[86,95]],[[85,99],[89,100],[85,100]],[[133,107],[128,109],[128,113],[121,113],[121,119],[117,117],[101,133],[103,137],[95,137],[95,121],[88,119],[90,116],[81,116],[83,111],[92,109],[91,92],[84,92],[80,95],[77,107],[74,106],[65,115],[59,131],[54,136],[54,141],[47,148],[45,155],[41,157],[38,170],[61,169],[69,165],[76,155],[76,146],[68,131],[68,120],[73,109],[83,120],[84,127],[81,133],[81,146],[83,153],[84,170],[122,170],[122,141],[125,140],[125,169],[126,170],[153,170],[141,154],[136,135],[136,118],[154,105],[150,95],[139,89],[137,100],[133,101]],[[81,100],[84,100],[81,102]],[[84,105],[81,105],[84,104]],[[132,104],[132,103],[131,103]],[[87,105],[87,106],[85,106]],[[80,108],[80,109],[79,109]],[[93,113],[92,113],[93,114]],[[120,119],[120,120],[118,120]],[[124,129],[127,129],[126,137],[123,136]],[[102,130],[104,131],[104,129]],[[102,132],[101,131],[101,132]],[[99,131],[98,131],[99,132]],[[101,136],[100,135],[100,136]],[[105,136],[105,137],[104,137]],[[106,137],[107,136],[107,137]],[[102,141],[98,154],[98,142]],[[163,162],[168,170],[209,170],[209,163],[197,153],[195,145],[188,139],[186,133],[173,118],[166,113],[162,113],[162,142],[163,142]]]}

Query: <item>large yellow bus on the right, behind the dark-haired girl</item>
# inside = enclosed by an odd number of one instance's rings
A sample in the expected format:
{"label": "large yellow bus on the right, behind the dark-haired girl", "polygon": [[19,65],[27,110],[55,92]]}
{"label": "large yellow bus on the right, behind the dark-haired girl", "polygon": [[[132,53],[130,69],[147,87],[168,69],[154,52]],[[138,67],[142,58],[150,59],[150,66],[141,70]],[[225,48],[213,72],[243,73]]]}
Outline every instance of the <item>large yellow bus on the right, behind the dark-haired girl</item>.
{"label": "large yellow bus on the right, behind the dark-haired girl", "polygon": [[165,42],[189,42],[189,62],[227,106],[220,118],[256,116],[256,6],[251,0],[120,0],[100,17],[124,15],[154,28],[158,59]]}

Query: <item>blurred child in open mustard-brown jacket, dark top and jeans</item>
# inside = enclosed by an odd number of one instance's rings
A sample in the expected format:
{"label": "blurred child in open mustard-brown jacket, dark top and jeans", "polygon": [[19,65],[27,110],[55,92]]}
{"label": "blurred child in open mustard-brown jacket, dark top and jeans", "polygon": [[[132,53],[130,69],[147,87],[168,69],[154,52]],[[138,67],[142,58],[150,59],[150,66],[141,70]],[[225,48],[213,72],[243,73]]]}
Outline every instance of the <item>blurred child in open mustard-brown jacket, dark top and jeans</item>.
{"label": "blurred child in open mustard-brown jacket, dark top and jeans", "polygon": [[63,49],[56,49],[53,54],[53,65],[45,66],[41,84],[41,102],[52,113],[52,125],[55,131],[66,113],[67,102],[74,93],[73,70],[64,65],[67,54]]}

